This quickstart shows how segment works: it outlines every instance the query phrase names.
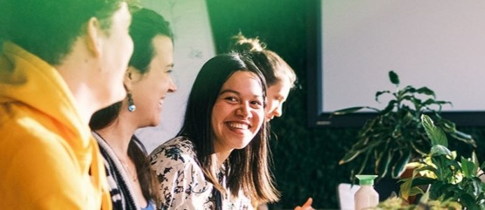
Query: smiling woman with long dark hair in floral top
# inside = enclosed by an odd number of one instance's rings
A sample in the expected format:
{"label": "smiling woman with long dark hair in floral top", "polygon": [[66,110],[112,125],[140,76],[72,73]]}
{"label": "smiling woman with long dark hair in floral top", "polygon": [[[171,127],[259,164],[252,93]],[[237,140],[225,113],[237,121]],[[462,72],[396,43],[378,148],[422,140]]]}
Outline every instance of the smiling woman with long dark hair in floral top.
{"label": "smiling woman with long dark hair in floral top", "polygon": [[209,59],[188,98],[178,137],[150,154],[160,209],[253,209],[276,202],[268,167],[265,78],[239,53]]}

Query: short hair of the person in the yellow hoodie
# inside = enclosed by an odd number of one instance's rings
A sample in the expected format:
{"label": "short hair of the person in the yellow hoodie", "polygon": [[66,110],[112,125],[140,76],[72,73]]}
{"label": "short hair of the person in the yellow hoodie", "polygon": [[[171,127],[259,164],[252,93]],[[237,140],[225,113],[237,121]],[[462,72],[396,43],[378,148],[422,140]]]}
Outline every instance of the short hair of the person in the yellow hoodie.
{"label": "short hair of the person in the yellow hoodie", "polygon": [[[113,13],[129,0],[2,0],[6,40],[49,64],[60,64],[90,18],[111,27]],[[129,2],[131,4],[131,2]]]}

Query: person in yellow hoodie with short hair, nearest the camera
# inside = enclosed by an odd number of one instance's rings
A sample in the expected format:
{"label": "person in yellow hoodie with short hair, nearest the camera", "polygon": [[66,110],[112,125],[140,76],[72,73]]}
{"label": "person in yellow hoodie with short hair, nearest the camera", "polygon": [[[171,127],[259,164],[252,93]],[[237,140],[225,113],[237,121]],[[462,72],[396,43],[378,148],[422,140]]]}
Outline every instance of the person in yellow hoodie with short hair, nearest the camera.
{"label": "person in yellow hoodie with short hair, nearest the camera", "polygon": [[111,209],[87,122],[126,95],[127,1],[0,5],[0,209]]}

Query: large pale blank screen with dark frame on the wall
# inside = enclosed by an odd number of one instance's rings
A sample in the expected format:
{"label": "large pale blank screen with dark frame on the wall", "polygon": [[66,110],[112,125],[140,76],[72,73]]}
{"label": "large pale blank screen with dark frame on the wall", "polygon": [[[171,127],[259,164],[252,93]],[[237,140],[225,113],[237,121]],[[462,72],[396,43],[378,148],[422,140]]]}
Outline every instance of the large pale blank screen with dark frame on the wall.
{"label": "large pale blank screen with dark frame on the wall", "polygon": [[322,0],[318,8],[310,125],[363,123],[337,123],[328,113],[384,108],[387,99],[379,104],[374,94],[396,90],[391,70],[400,87],[426,86],[437,100],[451,102],[444,116],[457,125],[485,125],[485,1]]}

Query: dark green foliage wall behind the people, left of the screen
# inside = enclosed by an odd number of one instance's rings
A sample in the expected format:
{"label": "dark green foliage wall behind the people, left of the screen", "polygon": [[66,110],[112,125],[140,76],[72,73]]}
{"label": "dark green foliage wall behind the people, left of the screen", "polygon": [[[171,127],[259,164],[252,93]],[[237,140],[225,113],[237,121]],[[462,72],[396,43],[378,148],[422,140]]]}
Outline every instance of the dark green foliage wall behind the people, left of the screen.
{"label": "dark green foliage wall behind the people, left of the screen", "polygon": [[[283,117],[272,120],[274,176],[283,197],[274,209],[293,209],[307,197],[318,209],[337,209],[337,185],[349,182],[349,165],[338,165],[356,141],[358,129],[307,127],[307,6],[314,0],[206,0],[218,52],[227,50],[230,36],[239,31],[248,37],[259,36],[295,69],[301,88],[290,93]],[[484,90],[485,94],[485,90]],[[313,97],[313,96],[310,96]],[[465,128],[481,148],[484,128]],[[454,145],[450,146],[451,149]],[[460,147],[461,151],[471,151]]]}

